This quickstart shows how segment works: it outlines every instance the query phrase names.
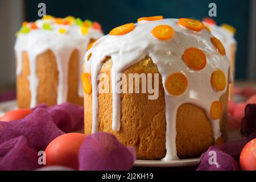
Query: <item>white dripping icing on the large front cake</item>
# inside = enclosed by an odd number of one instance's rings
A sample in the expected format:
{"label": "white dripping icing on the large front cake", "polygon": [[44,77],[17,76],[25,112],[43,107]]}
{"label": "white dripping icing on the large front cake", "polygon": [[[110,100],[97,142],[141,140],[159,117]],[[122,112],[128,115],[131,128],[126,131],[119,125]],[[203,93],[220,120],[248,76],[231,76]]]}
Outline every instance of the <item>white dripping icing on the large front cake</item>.
{"label": "white dripping icing on the large front cake", "polygon": [[[170,40],[159,40],[152,36],[151,31],[155,26],[167,24],[172,26],[175,34]],[[97,76],[100,72],[102,60],[106,56],[111,56],[112,65],[112,88],[115,88],[115,75],[123,72],[126,68],[137,63],[146,56],[150,56],[157,65],[162,84],[171,73],[183,73],[188,79],[188,88],[180,96],[171,96],[166,88],[166,149],[167,154],[164,160],[179,159],[176,153],[176,113],[179,106],[191,103],[205,110],[212,125],[214,138],[221,137],[220,121],[212,120],[209,111],[213,101],[219,100],[226,92],[226,88],[221,92],[215,92],[210,84],[212,73],[221,69],[225,73],[228,81],[229,60],[227,56],[222,56],[216,47],[213,46],[207,30],[195,32],[177,24],[177,19],[163,19],[156,21],[141,21],[136,24],[133,31],[125,35],[106,35],[100,38],[94,46],[85,54],[84,72],[92,74],[92,133],[98,130],[98,91]],[[207,65],[200,71],[190,69],[182,60],[185,49],[197,47],[204,51],[207,56]],[[89,53],[92,53],[89,61],[86,61]],[[113,93],[113,121],[112,129],[120,129],[120,94]]]}

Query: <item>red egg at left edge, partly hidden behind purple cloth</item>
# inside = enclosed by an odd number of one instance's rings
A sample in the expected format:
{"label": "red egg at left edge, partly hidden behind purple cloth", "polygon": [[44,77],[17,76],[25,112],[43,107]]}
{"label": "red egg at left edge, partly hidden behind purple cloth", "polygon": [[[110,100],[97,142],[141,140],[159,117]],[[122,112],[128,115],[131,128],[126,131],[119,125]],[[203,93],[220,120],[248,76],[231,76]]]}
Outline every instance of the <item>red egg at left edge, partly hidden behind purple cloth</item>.
{"label": "red egg at left edge, partly hidden behind purple cloth", "polygon": [[1,118],[0,121],[13,121],[19,120],[26,117],[28,114],[32,113],[31,109],[16,109],[11,110],[5,113]]}

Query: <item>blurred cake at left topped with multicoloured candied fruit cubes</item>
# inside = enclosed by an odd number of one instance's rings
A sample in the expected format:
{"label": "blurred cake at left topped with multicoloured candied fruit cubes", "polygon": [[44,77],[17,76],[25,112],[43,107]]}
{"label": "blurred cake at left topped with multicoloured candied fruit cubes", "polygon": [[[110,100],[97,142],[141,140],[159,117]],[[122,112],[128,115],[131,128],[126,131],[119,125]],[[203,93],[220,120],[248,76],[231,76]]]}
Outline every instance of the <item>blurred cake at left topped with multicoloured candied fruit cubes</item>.
{"label": "blurred cake at left topped with multicoloured candied fruit cubes", "polygon": [[82,106],[84,53],[102,35],[99,23],[73,16],[46,15],[24,22],[15,43],[18,107],[63,102]]}

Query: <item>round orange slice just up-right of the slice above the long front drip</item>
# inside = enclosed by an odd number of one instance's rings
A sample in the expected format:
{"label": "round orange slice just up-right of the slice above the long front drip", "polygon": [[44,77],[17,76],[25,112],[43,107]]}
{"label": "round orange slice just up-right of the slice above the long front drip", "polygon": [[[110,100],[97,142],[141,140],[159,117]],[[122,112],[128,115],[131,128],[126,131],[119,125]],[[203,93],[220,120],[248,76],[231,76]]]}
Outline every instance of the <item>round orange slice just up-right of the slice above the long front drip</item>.
{"label": "round orange slice just up-right of the slice above the long front drip", "polygon": [[201,70],[207,64],[207,58],[201,49],[191,47],[184,52],[184,62],[192,69]]}

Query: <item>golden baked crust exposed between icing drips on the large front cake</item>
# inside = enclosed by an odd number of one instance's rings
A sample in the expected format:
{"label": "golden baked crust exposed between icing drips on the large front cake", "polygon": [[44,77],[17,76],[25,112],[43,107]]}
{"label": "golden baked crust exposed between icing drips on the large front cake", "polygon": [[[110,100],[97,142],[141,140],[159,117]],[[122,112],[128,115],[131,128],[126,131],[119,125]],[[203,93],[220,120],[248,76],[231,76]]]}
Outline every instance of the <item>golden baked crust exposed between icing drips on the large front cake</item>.
{"label": "golden baked crust exposed between icing drips on the large front cake", "polygon": [[[100,73],[109,78],[112,60],[107,57]],[[150,57],[127,68],[123,73],[159,73]],[[160,75],[160,74],[159,74]],[[152,79],[154,80],[154,79]],[[159,83],[162,78],[159,76]],[[153,82],[154,84],[154,82]],[[109,79],[109,85],[110,79]],[[110,88],[109,88],[110,89]],[[157,100],[148,100],[146,94],[121,94],[121,128],[112,130],[112,94],[98,94],[98,130],[114,134],[127,146],[134,146],[138,159],[162,159],[166,155],[166,118],[164,88],[159,84]],[[228,91],[221,98],[226,114]],[[85,134],[92,130],[92,93],[84,96]],[[221,118],[221,131],[225,134],[226,117]],[[180,159],[200,156],[214,142],[212,128],[204,111],[192,104],[184,104],[177,110],[176,148]]]}

